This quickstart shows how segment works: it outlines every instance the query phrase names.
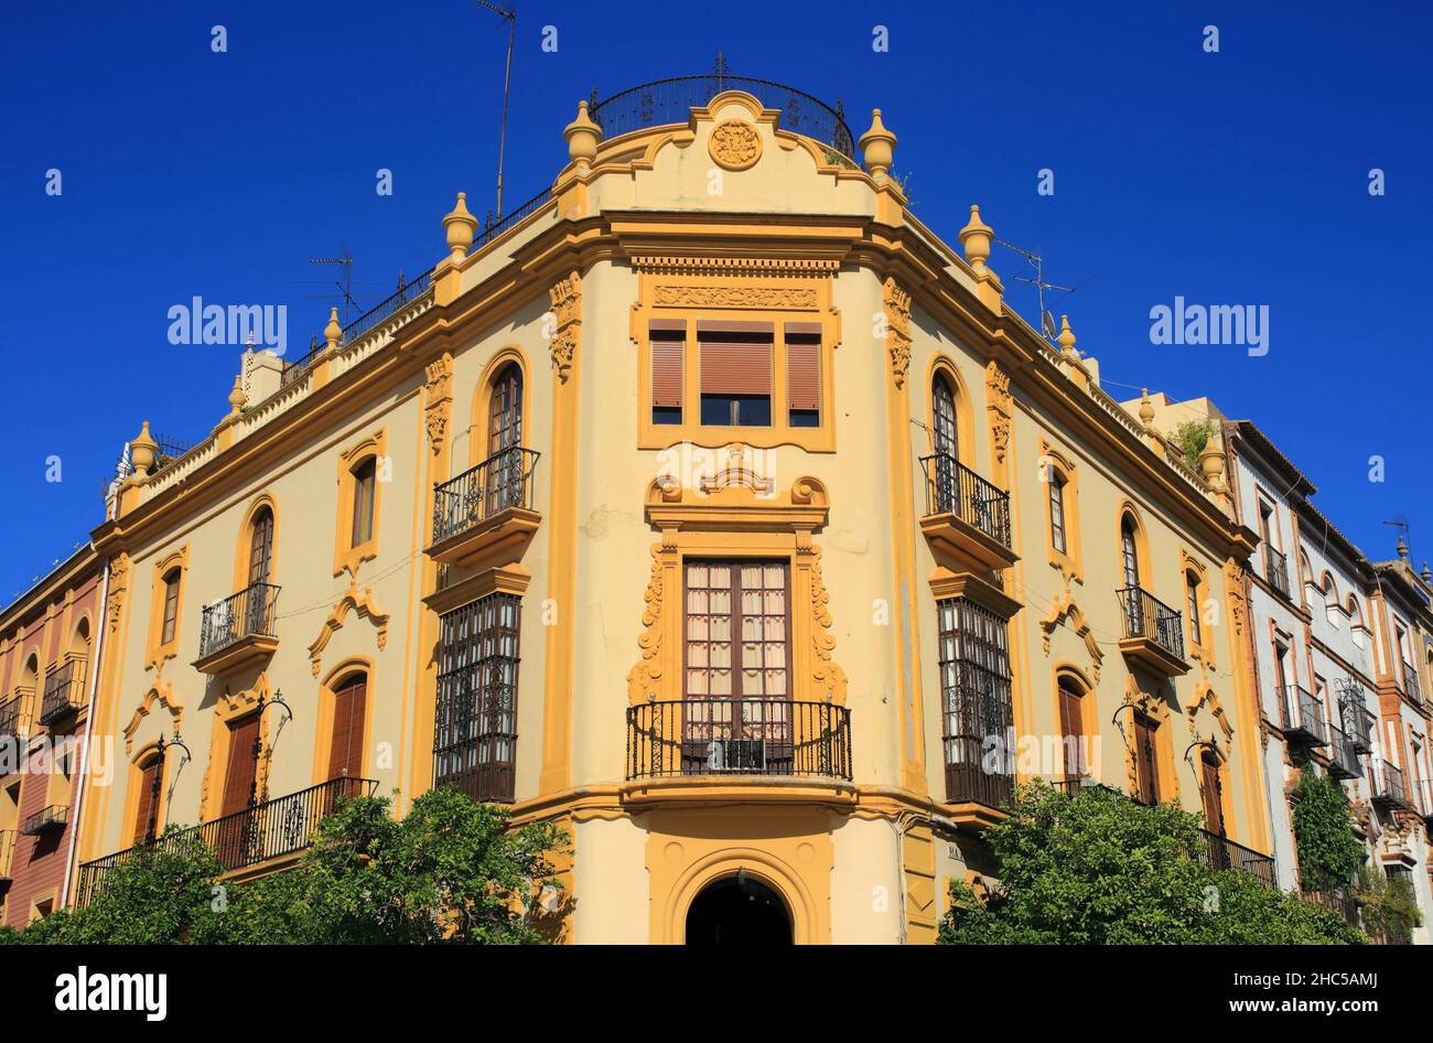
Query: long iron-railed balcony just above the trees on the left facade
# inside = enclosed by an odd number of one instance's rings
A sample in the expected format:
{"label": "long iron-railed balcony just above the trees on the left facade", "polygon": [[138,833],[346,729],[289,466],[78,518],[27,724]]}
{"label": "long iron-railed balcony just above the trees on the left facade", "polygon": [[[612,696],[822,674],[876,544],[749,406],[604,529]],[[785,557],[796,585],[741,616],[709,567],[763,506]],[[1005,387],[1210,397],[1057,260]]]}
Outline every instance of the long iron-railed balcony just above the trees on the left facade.
{"label": "long iron-railed balcony just above the trees on the left facade", "polygon": [[340,799],[373,797],[377,788],[374,779],[341,775],[202,825],[166,832],[153,844],[139,844],[85,862],[79,871],[75,904],[87,905],[103,887],[109,870],[132,861],[150,847],[178,851],[193,842],[203,844],[219,857],[229,874],[297,855],[314,841],[318,824],[337,808]]}

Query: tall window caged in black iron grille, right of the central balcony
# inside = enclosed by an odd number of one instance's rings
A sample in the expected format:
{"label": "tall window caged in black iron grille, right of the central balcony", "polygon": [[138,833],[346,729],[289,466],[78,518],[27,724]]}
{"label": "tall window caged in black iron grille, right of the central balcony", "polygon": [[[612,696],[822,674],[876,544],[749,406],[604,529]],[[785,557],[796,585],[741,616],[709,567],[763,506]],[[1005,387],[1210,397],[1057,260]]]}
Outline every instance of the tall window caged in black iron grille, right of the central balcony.
{"label": "tall window caged in black iron grille, right of the central balcony", "polygon": [[1015,722],[1007,625],[964,597],[937,602],[936,617],[946,798],[997,808],[1010,797],[1013,765],[992,765],[983,754],[987,739],[1005,746]]}

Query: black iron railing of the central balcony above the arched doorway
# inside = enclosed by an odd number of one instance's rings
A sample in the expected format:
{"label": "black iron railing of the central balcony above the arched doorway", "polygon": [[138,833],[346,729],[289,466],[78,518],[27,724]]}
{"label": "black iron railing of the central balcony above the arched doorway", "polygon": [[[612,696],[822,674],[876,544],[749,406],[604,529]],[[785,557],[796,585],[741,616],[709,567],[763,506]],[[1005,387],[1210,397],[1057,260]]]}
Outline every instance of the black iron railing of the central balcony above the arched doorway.
{"label": "black iron railing of the central balcony above the arched doorway", "polygon": [[691,698],[628,708],[629,779],[685,775],[851,778],[845,706]]}

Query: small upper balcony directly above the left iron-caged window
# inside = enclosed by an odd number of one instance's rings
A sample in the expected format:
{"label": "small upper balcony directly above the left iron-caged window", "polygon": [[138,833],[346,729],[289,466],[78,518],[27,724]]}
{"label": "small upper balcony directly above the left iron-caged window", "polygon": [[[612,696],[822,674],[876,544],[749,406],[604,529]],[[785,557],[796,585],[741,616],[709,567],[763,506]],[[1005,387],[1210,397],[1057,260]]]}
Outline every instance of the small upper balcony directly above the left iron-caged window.
{"label": "small upper balcony directly above the left iron-caged window", "polygon": [[440,564],[476,564],[522,553],[542,523],[533,510],[537,451],[514,446],[433,491],[433,544]]}

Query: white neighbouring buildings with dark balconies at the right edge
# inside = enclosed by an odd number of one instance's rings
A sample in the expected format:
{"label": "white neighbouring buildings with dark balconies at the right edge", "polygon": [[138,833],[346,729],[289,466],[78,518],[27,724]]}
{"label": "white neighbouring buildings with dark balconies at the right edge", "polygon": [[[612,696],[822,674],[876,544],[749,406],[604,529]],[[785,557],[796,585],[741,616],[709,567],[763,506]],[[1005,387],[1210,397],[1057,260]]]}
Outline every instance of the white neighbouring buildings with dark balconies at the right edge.
{"label": "white neighbouring buildings with dark balconies at the right edge", "polygon": [[[1278,883],[1357,923],[1347,891],[1324,894],[1301,880],[1293,824],[1303,771],[1338,779],[1369,860],[1409,873],[1433,923],[1426,818],[1429,587],[1406,560],[1371,564],[1311,503],[1313,481],[1252,421],[1228,420],[1207,398],[1151,395],[1165,433],[1208,423],[1232,477],[1238,517],[1260,536],[1248,573],[1250,646],[1260,692],[1264,769]],[[1125,403],[1131,411],[1139,401]],[[1416,941],[1427,941],[1427,926]]]}

